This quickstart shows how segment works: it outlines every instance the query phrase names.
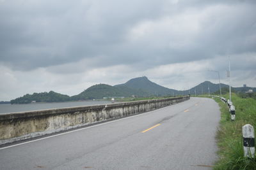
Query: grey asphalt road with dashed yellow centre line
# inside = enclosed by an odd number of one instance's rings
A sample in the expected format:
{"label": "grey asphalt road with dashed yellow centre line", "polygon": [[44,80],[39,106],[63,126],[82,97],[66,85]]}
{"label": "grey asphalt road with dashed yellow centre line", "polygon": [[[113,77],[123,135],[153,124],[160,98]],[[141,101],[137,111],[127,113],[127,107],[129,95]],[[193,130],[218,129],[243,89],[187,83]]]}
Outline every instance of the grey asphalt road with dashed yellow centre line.
{"label": "grey asphalt road with dashed yellow centre line", "polygon": [[0,169],[211,169],[220,120],[189,101],[51,138],[0,148]]}

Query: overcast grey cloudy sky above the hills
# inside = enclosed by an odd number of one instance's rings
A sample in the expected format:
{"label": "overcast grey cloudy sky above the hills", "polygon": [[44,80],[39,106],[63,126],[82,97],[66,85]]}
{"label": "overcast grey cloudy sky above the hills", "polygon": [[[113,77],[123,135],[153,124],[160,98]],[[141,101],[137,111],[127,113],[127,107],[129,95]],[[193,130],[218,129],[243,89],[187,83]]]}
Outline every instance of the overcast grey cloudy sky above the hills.
{"label": "overcast grey cloudy sky above the hills", "polygon": [[256,1],[0,0],[0,101],[131,78],[256,87]]}

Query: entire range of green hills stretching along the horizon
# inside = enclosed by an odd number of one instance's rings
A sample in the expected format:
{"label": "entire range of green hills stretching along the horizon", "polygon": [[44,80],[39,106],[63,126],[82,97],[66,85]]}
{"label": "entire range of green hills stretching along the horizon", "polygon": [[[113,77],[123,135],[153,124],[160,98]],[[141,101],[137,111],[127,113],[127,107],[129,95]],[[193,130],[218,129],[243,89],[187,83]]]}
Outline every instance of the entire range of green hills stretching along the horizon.
{"label": "entire range of green hills stretching along the horizon", "polygon": [[[79,101],[79,100],[90,100],[90,99],[102,99],[103,97],[148,97],[148,96],[177,96],[177,95],[188,95],[188,94],[208,94],[208,87],[210,93],[219,92],[219,84],[211,83],[210,81],[204,81],[199,85],[189,89],[189,90],[174,90],[168,89],[161,85],[157,85],[146,76],[139,78],[132,78],[124,84],[120,85],[106,85],[99,84],[93,85],[88,89],[84,90],[76,96],[67,96],[63,94],[58,94],[56,92],[42,92],[34,94],[26,94],[23,97],[19,97],[11,101],[12,104],[23,104],[31,103],[32,101],[36,102],[63,102],[63,101]],[[228,91],[228,85],[221,83],[221,88],[223,92]],[[236,92],[247,92],[249,89],[252,89],[253,92],[256,92],[255,87],[234,87],[232,90]]]}

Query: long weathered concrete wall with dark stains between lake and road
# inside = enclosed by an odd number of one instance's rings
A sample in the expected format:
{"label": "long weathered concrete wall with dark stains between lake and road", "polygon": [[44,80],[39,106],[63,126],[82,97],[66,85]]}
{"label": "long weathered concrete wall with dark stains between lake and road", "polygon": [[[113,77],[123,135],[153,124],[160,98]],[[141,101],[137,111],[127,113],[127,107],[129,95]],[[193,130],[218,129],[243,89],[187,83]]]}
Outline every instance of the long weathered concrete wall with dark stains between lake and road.
{"label": "long weathered concrete wall with dark stains between lake and road", "polygon": [[175,97],[0,114],[0,145],[163,108],[188,100]]}

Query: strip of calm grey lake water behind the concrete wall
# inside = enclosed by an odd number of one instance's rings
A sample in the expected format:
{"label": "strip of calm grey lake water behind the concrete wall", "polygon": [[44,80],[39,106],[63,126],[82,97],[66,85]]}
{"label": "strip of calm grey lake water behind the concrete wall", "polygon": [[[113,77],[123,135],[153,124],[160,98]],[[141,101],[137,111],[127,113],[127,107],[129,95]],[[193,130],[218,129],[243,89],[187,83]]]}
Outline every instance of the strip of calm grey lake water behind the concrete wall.
{"label": "strip of calm grey lake water behind the concrete wall", "polygon": [[111,101],[77,101],[63,103],[31,103],[31,104],[0,104],[1,113],[13,113],[20,111],[45,110],[53,108],[68,108],[74,106],[90,106],[95,104],[108,104]]}

